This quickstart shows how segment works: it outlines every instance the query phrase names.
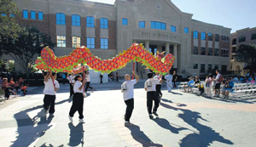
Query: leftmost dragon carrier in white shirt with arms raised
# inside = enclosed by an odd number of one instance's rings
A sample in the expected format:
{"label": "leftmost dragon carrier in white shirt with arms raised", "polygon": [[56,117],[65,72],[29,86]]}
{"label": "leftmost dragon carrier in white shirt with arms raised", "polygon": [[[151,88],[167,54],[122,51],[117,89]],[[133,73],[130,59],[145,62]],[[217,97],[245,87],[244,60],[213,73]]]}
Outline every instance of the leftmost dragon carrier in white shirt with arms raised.
{"label": "leftmost dragon carrier in white shirt with arms raised", "polygon": [[[53,79],[52,79],[53,78]],[[49,112],[49,116],[54,117],[56,92],[60,89],[60,84],[55,79],[56,73],[48,72],[44,76],[44,112],[45,116]]]}

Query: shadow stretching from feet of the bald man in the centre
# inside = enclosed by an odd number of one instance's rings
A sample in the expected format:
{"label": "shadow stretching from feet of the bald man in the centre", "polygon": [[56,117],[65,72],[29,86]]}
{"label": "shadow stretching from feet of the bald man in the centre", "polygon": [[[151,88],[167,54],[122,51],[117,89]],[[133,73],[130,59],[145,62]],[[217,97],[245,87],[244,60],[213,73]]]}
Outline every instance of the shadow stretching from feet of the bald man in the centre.
{"label": "shadow stretching from feet of the bald man in the centre", "polygon": [[127,127],[131,130],[131,136],[133,139],[135,139],[137,142],[140,144],[143,144],[143,147],[162,147],[163,145],[161,144],[154,144],[151,139],[148,138],[148,136],[141,131],[140,127],[137,125],[133,125],[132,127]]}

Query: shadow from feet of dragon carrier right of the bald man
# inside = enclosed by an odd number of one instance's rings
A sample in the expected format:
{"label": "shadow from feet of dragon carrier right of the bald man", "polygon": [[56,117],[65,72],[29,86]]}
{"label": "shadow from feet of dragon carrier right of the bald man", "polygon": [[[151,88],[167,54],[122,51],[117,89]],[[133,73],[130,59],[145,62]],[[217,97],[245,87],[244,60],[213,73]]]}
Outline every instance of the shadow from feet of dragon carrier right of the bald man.
{"label": "shadow from feet of dragon carrier right of the bald man", "polygon": [[172,127],[170,122],[168,122],[165,118],[158,118],[156,117],[153,119],[154,122],[156,122],[160,127],[165,128],[166,130],[170,130],[172,133],[179,133],[179,131],[186,130],[187,128],[184,127]]}

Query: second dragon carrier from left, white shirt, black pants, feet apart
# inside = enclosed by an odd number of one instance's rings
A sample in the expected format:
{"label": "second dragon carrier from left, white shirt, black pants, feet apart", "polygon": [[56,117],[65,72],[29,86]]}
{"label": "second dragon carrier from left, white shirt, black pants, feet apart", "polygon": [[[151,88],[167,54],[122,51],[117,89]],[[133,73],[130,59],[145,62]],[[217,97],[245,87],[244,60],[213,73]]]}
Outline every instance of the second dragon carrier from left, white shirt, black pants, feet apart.
{"label": "second dragon carrier from left, white shirt, black pants, feet apart", "polygon": [[79,122],[84,123],[84,115],[83,115],[83,110],[84,110],[84,95],[83,95],[83,91],[84,91],[84,84],[85,84],[85,80],[83,82],[81,82],[83,80],[83,77],[78,75],[75,76],[74,78],[75,83],[73,86],[73,104],[72,107],[69,111],[69,120],[70,122],[73,122],[73,115],[76,111],[79,111]]}

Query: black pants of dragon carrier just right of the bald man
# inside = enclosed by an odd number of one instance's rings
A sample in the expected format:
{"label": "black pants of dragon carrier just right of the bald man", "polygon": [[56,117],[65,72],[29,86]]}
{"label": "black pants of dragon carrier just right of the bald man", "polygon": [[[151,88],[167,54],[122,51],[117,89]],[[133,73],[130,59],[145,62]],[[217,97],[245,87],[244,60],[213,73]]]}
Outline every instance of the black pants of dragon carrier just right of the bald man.
{"label": "black pants of dragon carrier just right of the bald man", "polygon": [[147,107],[148,107],[148,114],[152,114],[152,105],[154,100],[154,111],[157,111],[159,107],[159,99],[156,92],[147,92]]}

